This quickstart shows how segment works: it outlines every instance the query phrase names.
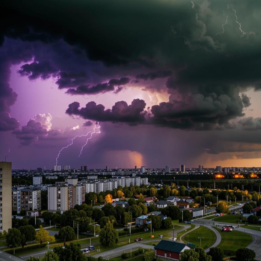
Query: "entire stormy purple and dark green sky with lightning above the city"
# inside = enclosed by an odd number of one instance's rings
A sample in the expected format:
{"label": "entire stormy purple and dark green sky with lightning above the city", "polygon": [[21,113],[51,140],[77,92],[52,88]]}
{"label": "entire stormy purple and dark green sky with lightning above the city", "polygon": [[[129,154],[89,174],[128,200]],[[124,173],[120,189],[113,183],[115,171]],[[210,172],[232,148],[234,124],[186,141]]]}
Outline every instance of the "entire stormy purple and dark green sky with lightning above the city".
{"label": "entire stormy purple and dark green sky with lightning above the city", "polygon": [[261,166],[261,2],[0,2],[13,169]]}

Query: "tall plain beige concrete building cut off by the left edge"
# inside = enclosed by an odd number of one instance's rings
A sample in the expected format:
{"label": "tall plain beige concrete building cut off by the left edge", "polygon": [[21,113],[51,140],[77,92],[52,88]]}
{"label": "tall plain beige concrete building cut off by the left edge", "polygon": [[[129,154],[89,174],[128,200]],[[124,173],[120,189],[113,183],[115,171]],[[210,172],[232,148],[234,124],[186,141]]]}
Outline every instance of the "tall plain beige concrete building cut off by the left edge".
{"label": "tall plain beige concrete building cut off by the left edge", "polygon": [[12,163],[0,162],[0,232],[12,228]]}

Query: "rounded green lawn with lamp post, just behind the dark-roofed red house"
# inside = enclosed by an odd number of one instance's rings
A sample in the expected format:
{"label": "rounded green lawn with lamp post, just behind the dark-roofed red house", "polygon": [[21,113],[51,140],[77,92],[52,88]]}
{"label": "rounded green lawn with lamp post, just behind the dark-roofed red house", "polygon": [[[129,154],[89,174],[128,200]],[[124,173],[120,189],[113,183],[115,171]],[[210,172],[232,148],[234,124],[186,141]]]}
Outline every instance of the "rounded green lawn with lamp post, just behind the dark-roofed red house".
{"label": "rounded green lawn with lamp post, just behind the dark-roofed red house", "polygon": [[200,238],[198,237],[202,237],[201,247],[203,247],[204,249],[207,249],[208,247],[212,246],[216,241],[216,235],[213,231],[211,231],[207,227],[200,226],[199,228],[186,234],[184,237],[184,242],[190,242],[199,247]]}

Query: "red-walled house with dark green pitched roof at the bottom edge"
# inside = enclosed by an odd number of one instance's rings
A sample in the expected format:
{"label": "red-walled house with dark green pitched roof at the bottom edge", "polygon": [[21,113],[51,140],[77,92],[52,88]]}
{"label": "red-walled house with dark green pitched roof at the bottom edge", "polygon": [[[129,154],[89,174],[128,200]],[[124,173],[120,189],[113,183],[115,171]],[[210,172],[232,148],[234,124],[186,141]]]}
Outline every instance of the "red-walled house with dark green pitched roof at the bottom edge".
{"label": "red-walled house with dark green pitched roof at the bottom edge", "polygon": [[176,241],[161,240],[154,249],[156,257],[164,257],[178,261],[180,260],[180,253],[186,249],[191,249],[191,247]]}

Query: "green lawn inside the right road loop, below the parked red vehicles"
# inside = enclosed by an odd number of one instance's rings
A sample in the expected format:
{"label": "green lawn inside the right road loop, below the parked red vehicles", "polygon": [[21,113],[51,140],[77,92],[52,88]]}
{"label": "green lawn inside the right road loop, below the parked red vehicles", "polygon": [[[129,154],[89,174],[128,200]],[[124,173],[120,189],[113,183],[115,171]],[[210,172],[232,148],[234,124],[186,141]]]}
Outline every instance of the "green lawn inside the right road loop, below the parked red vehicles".
{"label": "green lawn inside the right road loop, below the parked red vehicles", "polygon": [[251,235],[244,232],[235,231],[227,232],[221,231],[219,228],[215,228],[221,235],[221,242],[218,245],[223,249],[225,255],[235,255],[235,252],[239,248],[247,247],[253,240]]}

